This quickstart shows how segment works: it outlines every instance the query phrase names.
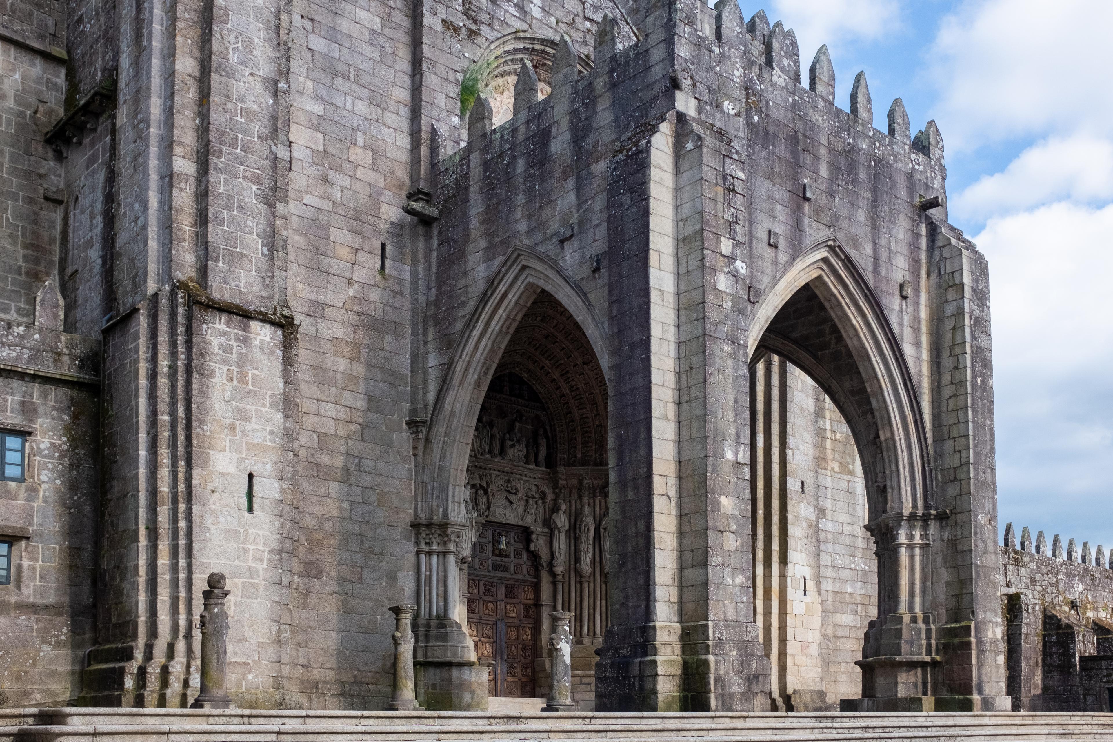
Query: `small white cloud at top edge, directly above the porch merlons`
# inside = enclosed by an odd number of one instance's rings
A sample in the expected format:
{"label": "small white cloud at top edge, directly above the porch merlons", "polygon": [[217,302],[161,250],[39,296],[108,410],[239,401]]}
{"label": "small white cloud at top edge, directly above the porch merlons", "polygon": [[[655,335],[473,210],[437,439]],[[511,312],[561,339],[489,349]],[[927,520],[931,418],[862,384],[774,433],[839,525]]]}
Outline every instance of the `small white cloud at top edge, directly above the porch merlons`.
{"label": "small white cloud at top edge, directly above the porch merlons", "polygon": [[796,32],[805,83],[820,46],[831,49],[843,41],[877,39],[900,23],[897,0],[776,0],[766,13],[770,23],[781,20]]}

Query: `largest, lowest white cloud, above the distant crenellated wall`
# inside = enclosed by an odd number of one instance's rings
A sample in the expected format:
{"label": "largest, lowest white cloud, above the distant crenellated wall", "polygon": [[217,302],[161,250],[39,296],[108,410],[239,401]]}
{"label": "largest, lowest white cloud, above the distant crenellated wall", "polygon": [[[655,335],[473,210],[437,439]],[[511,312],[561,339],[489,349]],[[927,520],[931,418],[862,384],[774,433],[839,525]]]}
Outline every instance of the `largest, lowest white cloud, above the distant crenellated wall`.
{"label": "largest, lowest white cloud, above the distant crenellated wall", "polygon": [[[1007,170],[1006,170],[1007,172]],[[1001,522],[1113,544],[1113,205],[989,219]]]}

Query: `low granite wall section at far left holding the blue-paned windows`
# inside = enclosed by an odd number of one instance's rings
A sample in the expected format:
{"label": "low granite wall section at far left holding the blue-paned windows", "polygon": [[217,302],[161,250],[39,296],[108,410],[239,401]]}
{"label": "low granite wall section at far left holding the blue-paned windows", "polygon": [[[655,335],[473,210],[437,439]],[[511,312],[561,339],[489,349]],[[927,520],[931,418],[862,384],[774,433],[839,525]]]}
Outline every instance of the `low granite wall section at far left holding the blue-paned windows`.
{"label": "low granite wall section at far left holding the blue-paned windows", "polygon": [[99,343],[0,321],[0,429],[27,436],[24,482],[0,482],[0,705],[65,705],[95,635]]}

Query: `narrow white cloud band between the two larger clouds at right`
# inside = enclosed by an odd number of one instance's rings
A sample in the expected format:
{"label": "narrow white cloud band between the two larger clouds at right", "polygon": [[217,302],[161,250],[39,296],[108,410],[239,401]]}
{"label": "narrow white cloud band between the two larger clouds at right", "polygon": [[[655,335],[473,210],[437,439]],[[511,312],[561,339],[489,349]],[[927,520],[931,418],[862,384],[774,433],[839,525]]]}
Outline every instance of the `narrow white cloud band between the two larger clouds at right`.
{"label": "narrow white cloud band between the two larger clouds at right", "polygon": [[1043,204],[1113,198],[1113,141],[1089,135],[1053,137],[1025,149],[1004,171],[982,176],[952,197],[952,215],[985,219]]}

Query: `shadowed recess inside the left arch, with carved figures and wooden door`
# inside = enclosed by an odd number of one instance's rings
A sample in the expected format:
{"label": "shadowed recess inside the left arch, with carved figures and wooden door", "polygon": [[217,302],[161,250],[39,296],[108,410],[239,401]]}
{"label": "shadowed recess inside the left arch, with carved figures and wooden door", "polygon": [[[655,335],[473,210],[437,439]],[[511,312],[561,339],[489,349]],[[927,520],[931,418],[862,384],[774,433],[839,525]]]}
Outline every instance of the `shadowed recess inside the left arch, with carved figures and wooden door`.
{"label": "shadowed recess inside the left arch, with carved figures and wooden door", "polygon": [[550,613],[574,616],[578,693],[607,630],[607,382],[575,318],[541,290],[487,386],[467,463],[467,633],[492,696],[549,690]]}

